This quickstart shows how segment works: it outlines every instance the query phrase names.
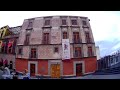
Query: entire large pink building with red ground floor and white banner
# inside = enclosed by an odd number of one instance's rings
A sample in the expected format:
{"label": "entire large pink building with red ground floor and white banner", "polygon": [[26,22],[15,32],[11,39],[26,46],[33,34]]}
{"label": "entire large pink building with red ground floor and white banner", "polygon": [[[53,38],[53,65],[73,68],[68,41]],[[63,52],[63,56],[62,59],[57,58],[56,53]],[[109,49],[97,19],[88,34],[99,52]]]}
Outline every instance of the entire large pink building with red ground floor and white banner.
{"label": "entire large pink building with red ground floor and white banner", "polygon": [[16,48],[16,70],[52,78],[95,72],[96,48],[89,21],[79,16],[25,19]]}

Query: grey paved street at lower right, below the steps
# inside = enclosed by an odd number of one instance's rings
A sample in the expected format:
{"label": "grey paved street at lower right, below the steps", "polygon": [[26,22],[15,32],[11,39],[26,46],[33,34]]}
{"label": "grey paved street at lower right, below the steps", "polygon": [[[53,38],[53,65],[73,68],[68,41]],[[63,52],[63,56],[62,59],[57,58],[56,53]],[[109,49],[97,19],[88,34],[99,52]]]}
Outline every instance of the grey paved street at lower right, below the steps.
{"label": "grey paved street at lower right, below the steps", "polygon": [[120,74],[114,75],[86,75],[83,77],[72,77],[66,79],[120,79]]}

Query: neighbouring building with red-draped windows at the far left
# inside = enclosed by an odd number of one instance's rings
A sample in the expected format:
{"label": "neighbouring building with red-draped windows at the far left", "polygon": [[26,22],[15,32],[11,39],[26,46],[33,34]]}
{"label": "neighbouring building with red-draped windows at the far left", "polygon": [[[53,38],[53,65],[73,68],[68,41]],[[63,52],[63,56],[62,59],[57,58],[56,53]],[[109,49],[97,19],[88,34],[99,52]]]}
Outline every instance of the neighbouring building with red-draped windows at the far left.
{"label": "neighbouring building with red-draped windows at the far left", "polygon": [[[15,49],[21,26],[4,26],[0,29],[0,64],[15,68]],[[0,65],[0,66],[1,66]]]}

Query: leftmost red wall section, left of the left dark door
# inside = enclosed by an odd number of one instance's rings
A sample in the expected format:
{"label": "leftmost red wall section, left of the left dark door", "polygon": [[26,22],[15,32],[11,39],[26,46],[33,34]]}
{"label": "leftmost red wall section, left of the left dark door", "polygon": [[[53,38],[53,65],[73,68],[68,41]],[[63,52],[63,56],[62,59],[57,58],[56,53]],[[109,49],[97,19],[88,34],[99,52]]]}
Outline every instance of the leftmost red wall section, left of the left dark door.
{"label": "leftmost red wall section, left of the left dark door", "polygon": [[15,68],[17,71],[23,72],[25,69],[28,69],[28,60],[16,59]]}

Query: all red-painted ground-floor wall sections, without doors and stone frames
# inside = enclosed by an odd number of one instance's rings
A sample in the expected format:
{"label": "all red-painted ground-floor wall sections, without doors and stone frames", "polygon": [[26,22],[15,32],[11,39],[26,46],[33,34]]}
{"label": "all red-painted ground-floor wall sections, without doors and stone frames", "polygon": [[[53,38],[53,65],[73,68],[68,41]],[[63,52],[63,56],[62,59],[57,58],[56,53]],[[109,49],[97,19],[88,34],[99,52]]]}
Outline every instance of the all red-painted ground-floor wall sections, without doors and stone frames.
{"label": "all red-painted ground-floor wall sections, without doors and stone frames", "polygon": [[[84,61],[85,63],[85,73],[94,72],[97,69],[97,60],[96,57],[83,58],[83,59],[72,59],[72,60],[63,60],[63,75],[73,75],[74,61]],[[16,59],[15,62],[16,70],[23,72],[24,69],[28,69],[28,60]],[[41,69],[43,68],[43,71]],[[38,60],[38,74],[48,75],[48,60]]]}

